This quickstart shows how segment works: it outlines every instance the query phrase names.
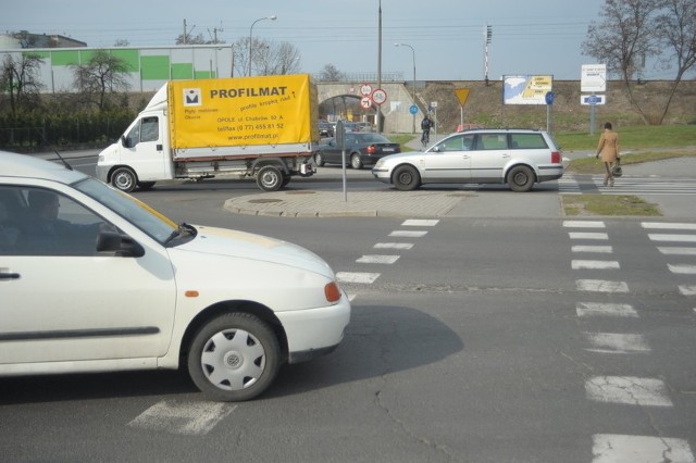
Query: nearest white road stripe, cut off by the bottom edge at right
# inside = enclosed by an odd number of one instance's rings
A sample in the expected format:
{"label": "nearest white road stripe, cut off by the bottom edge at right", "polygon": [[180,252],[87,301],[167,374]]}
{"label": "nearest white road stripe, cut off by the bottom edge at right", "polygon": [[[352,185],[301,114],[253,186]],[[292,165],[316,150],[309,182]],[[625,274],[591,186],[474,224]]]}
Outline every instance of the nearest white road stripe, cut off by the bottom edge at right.
{"label": "nearest white road stripe, cut off by the bottom edge at right", "polygon": [[684,439],[595,434],[592,440],[592,463],[695,463]]}

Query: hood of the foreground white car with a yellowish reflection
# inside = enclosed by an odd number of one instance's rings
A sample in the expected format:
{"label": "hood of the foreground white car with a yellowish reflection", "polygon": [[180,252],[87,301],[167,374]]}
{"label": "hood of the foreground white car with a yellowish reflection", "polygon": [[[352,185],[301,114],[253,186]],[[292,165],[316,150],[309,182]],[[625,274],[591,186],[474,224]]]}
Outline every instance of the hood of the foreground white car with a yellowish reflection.
{"label": "hood of the foreground white car with a yellowish reflection", "polygon": [[323,259],[291,242],[246,232],[194,226],[198,230],[198,236],[185,245],[177,246],[178,251],[272,262],[334,278],[333,271]]}

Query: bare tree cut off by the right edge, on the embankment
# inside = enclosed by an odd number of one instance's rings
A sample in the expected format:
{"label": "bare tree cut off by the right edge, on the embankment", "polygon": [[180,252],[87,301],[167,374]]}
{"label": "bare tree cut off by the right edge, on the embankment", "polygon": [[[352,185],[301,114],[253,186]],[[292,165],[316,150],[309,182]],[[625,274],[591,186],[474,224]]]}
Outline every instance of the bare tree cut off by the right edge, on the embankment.
{"label": "bare tree cut off by the right edge, on the embankment", "polygon": [[671,67],[672,62],[676,62],[676,76],[659,121],[659,124],[662,124],[679,83],[682,82],[685,73],[696,67],[696,2],[666,0],[656,24],[661,48],[672,52],[671,55],[663,55],[661,62],[668,68]]}

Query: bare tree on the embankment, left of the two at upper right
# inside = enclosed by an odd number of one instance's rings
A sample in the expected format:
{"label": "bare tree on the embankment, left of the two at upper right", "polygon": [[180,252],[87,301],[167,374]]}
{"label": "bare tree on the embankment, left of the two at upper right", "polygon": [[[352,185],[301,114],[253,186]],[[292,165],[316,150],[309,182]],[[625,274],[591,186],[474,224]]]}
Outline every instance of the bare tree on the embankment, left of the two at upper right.
{"label": "bare tree on the embankment, left of the two at upper right", "polygon": [[631,80],[638,63],[657,52],[656,16],[663,0],[607,0],[599,13],[601,21],[593,22],[583,42],[583,53],[607,63],[609,72],[619,74],[629,99],[643,122],[647,124],[633,96]]}

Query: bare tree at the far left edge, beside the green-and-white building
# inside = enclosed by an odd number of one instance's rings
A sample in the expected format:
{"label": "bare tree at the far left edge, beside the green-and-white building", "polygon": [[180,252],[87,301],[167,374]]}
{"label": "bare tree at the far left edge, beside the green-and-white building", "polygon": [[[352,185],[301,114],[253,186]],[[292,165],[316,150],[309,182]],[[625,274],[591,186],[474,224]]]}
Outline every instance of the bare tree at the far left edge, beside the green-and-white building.
{"label": "bare tree at the far left edge, beside the green-and-white building", "polygon": [[0,91],[9,96],[12,117],[16,116],[18,109],[38,98],[42,87],[39,83],[41,63],[44,60],[33,53],[22,53],[17,59],[12,54],[4,57],[2,74],[0,74]]}

